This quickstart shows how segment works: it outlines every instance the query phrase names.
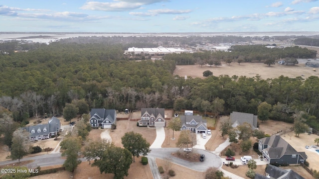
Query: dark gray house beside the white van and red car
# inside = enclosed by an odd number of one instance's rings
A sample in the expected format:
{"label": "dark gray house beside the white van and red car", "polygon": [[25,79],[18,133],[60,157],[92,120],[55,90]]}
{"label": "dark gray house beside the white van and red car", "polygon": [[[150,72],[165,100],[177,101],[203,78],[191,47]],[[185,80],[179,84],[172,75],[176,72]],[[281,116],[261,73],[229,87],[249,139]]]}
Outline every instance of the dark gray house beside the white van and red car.
{"label": "dark gray house beside the white van and red car", "polygon": [[258,150],[268,164],[301,164],[307,159],[305,152],[297,152],[279,135],[259,139]]}

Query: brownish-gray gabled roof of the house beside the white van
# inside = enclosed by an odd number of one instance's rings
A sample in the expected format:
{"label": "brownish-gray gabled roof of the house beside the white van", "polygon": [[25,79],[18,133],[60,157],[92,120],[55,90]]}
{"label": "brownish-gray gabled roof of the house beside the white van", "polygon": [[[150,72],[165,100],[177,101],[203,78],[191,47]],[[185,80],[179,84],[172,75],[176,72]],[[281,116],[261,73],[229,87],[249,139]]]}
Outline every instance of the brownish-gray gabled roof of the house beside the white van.
{"label": "brownish-gray gabled roof of the house beside the white van", "polygon": [[264,137],[260,139],[263,144],[267,144],[268,148],[264,149],[268,152],[271,159],[281,158],[283,155],[300,154],[307,159],[305,152],[297,152],[288,142],[286,142],[281,136],[273,135],[271,137]]}

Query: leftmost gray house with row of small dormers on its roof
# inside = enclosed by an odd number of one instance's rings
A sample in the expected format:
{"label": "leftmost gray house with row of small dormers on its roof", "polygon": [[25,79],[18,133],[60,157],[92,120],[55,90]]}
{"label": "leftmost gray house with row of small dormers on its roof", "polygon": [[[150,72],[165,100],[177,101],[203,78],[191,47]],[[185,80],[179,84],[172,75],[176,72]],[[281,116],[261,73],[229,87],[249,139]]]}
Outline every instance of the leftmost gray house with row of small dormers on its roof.
{"label": "leftmost gray house with row of small dormers on its roof", "polygon": [[52,117],[47,124],[27,126],[22,129],[30,133],[29,140],[48,139],[58,135],[61,129],[61,123],[58,118]]}

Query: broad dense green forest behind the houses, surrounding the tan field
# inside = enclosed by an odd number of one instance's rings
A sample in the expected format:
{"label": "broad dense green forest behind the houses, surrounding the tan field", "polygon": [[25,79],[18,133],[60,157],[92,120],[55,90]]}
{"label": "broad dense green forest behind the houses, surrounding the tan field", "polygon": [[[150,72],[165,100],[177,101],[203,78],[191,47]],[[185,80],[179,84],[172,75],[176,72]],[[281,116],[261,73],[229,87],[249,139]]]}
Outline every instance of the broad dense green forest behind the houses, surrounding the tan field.
{"label": "broad dense green forest behind the houses, surrounding the tan field", "polygon": [[[164,107],[218,115],[231,111],[257,114],[258,105],[265,101],[272,106],[270,118],[293,122],[291,116],[296,111],[307,111],[309,116],[304,118],[319,128],[318,77],[224,75],[185,80],[172,75],[178,54],[154,62],[135,62],[126,59],[123,52],[121,44],[57,42],[27,53],[0,55],[0,105],[21,122],[30,116],[61,115],[67,103],[78,105],[81,111],[87,110],[86,105],[89,109],[117,110]],[[180,63],[193,58],[199,65],[215,65],[220,59],[233,58],[247,61],[250,57],[258,62],[265,54],[284,58],[312,56],[314,52],[300,47],[233,46],[232,52],[180,54],[184,58],[179,59]],[[77,100],[81,102],[72,102]]]}

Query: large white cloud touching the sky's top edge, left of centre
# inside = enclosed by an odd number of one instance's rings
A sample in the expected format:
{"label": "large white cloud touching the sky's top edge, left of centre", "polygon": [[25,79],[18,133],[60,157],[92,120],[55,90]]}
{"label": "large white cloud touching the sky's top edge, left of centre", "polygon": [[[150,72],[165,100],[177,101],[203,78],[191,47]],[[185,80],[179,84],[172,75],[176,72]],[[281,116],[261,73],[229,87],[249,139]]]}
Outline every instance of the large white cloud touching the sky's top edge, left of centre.
{"label": "large white cloud touching the sky's top edge, left of centre", "polygon": [[142,5],[163,2],[166,0],[114,0],[113,2],[88,1],[81,9],[101,11],[129,11],[141,8]]}

